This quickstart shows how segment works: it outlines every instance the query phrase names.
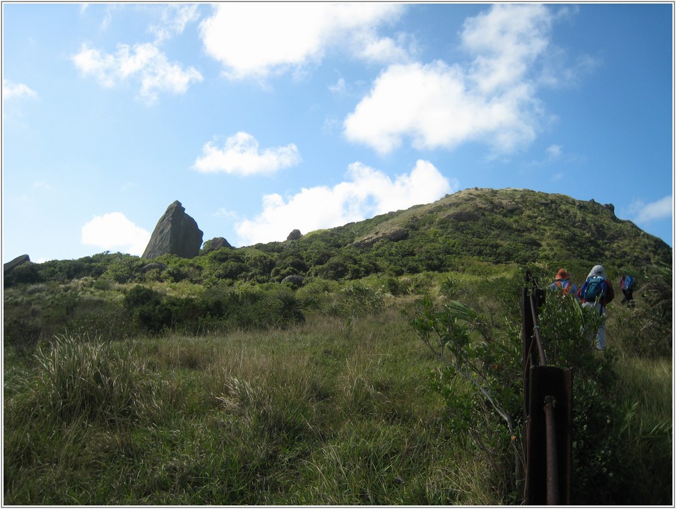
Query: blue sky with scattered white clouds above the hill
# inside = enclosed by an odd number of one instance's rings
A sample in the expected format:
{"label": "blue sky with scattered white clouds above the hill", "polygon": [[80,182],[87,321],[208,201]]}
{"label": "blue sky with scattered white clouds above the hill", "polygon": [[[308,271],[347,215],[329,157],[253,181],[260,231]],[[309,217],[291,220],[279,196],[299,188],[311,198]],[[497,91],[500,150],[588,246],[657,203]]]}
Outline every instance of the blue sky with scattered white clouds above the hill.
{"label": "blue sky with scattered white clouds above the hill", "polygon": [[237,247],[468,187],[672,245],[672,4],[9,4],[3,262]]}

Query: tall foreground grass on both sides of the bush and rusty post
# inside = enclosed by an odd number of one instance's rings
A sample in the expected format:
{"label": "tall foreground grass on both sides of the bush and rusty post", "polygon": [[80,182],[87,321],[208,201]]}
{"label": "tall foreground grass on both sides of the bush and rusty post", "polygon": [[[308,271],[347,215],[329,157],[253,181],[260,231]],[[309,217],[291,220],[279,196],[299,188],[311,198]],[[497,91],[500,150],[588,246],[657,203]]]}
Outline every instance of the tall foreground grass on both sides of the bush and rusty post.
{"label": "tall foreground grass on both sides of the bush and rusty post", "polygon": [[[489,292],[514,274],[449,276],[452,283],[420,274],[405,286],[446,292],[504,327],[500,303],[509,296]],[[509,462],[490,447],[500,431],[486,435],[482,450],[453,429],[444,399],[429,389],[439,360],[400,311],[415,296],[385,296],[374,314],[358,312],[357,299],[375,295],[363,288],[381,283],[365,279],[349,292],[333,285],[331,294],[319,286],[298,291],[315,296],[316,305],[304,323],[286,329],[121,341],[69,332],[42,339],[35,355],[6,344],[4,502],[518,501],[505,481]],[[352,305],[338,306],[345,296]],[[634,503],[669,503],[672,366],[624,349],[631,341],[628,332],[619,334],[619,324],[629,323],[625,315],[617,312],[607,327],[608,344],[617,338],[622,346],[616,393],[624,416],[609,432],[622,437],[619,457],[631,465],[619,470],[615,489],[630,490]]]}

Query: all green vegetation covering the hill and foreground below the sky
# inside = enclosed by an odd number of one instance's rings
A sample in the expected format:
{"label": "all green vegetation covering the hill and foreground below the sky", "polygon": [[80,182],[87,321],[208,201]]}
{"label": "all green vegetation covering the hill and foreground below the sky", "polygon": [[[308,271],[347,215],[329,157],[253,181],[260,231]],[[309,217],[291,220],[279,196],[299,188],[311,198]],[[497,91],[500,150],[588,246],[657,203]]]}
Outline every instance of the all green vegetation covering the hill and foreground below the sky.
{"label": "all green vegetation covering the hill and foreground below the sky", "polygon": [[[119,253],[14,269],[4,502],[520,503],[523,276],[565,266],[580,284],[602,262],[616,286],[639,278],[635,306],[617,288],[605,352],[572,299],[540,310],[550,363],[574,370],[573,502],[672,503],[669,248],[623,240],[635,227],[607,206],[557,196],[540,221],[547,195],[459,194],[164,269]],[[555,223],[586,206],[612,248]]]}

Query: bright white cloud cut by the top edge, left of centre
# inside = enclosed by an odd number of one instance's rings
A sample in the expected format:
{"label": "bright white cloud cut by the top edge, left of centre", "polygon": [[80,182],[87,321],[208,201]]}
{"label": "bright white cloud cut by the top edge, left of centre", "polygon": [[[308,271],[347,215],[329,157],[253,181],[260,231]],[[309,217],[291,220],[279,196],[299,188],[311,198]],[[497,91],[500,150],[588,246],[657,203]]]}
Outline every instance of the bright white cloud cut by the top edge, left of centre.
{"label": "bright white cloud cut by the top edge, left of centre", "polygon": [[381,37],[381,23],[398,17],[397,4],[224,2],[202,21],[201,38],[230,78],[265,78],[318,62],[330,47],[357,58],[391,62],[407,58],[408,40]]}

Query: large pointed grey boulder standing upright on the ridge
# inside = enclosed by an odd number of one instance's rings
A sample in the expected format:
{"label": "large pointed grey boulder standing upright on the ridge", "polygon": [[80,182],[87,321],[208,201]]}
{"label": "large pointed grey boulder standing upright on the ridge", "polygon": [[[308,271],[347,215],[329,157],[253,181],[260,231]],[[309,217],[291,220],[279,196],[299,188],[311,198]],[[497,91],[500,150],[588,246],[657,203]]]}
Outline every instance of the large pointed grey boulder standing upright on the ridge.
{"label": "large pointed grey boulder standing upright on the ridge", "polygon": [[199,254],[203,232],[196,221],[185,213],[180,201],[174,201],[150,235],[148,247],[142,258],[153,259],[162,254],[176,254],[182,258],[194,258]]}

